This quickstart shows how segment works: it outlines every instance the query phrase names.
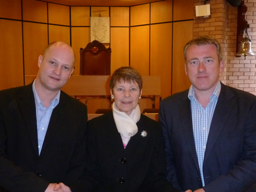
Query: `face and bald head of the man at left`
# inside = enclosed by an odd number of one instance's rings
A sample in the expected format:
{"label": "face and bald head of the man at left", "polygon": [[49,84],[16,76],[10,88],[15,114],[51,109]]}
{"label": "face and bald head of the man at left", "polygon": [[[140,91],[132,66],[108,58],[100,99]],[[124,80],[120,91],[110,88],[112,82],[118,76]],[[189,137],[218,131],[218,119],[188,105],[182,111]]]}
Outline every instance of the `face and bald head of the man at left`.
{"label": "face and bald head of the man at left", "polygon": [[36,79],[40,85],[47,90],[58,91],[74,71],[74,53],[68,45],[52,45],[44,56],[39,56],[38,67]]}

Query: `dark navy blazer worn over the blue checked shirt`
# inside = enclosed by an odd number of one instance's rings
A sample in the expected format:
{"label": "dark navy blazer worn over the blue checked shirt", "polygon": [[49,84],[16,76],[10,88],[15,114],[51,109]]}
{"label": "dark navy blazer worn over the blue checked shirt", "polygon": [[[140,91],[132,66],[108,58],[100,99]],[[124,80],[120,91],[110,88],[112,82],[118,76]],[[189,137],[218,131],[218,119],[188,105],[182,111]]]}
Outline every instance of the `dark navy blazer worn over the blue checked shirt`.
{"label": "dark navy blazer worn over the blue checked shirt", "polygon": [[[168,180],[186,189],[202,188],[188,90],[160,104]],[[246,191],[256,182],[256,97],[225,86],[221,92],[204,156],[205,192]]]}

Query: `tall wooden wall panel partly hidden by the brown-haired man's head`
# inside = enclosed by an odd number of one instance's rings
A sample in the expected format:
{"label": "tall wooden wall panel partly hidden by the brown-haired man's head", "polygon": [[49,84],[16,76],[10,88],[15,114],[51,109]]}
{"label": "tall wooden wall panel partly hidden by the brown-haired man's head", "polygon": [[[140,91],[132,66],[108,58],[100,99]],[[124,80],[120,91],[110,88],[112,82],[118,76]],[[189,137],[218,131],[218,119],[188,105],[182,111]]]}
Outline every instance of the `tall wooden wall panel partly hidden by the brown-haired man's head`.
{"label": "tall wooden wall panel partly hidden by the brown-haired man's head", "polygon": [[182,92],[189,88],[190,82],[185,74],[183,56],[184,45],[193,38],[193,20],[173,24],[173,82],[172,93]]}

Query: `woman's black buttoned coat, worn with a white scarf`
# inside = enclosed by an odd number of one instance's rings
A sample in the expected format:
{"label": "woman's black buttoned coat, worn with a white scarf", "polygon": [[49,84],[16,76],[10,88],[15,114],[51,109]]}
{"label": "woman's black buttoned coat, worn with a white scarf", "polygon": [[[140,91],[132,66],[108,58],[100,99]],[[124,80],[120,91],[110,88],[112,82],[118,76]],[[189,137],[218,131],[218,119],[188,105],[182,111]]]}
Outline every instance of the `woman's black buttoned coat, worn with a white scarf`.
{"label": "woman's black buttoned coat, worn with a white scarf", "polygon": [[161,125],[145,115],[137,125],[124,148],[112,111],[88,122],[84,191],[176,191],[166,180]]}

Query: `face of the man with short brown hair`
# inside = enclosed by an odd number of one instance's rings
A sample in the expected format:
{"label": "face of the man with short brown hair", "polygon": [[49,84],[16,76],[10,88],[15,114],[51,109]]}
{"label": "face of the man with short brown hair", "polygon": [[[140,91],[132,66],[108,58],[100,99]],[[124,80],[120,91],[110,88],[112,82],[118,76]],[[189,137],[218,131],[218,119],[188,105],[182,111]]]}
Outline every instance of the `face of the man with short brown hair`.
{"label": "face of the man with short brown hair", "polygon": [[218,60],[215,45],[191,45],[186,56],[185,71],[195,91],[213,92],[224,68],[223,61]]}

